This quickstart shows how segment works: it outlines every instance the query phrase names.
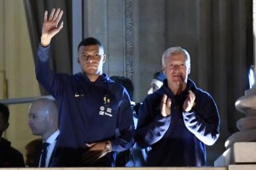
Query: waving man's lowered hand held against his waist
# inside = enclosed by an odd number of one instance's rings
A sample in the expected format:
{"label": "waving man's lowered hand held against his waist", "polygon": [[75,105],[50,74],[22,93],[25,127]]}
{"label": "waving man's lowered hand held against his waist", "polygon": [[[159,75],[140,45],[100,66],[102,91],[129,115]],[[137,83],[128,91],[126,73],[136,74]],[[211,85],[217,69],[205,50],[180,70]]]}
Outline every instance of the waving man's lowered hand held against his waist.
{"label": "waving man's lowered hand held against his waist", "polygon": [[106,149],[105,141],[85,145],[88,147],[88,150],[85,150],[84,154],[82,155],[82,161],[84,164],[93,164],[102,156],[105,156],[111,151]]}

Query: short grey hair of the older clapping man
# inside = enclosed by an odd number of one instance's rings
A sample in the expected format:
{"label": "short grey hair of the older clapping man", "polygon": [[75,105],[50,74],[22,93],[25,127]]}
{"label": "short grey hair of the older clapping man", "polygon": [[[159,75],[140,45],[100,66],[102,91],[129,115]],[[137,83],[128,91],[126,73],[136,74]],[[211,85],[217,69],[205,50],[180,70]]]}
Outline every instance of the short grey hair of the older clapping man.
{"label": "short grey hair of the older clapping man", "polygon": [[162,66],[163,66],[163,68],[166,67],[166,62],[165,62],[166,56],[169,55],[169,54],[174,54],[174,53],[184,54],[186,56],[186,59],[187,59],[186,62],[188,62],[188,65],[190,66],[190,55],[189,55],[189,53],[181,47],[172,47],[172,48],[166,49],[166,51],[162,55]]}

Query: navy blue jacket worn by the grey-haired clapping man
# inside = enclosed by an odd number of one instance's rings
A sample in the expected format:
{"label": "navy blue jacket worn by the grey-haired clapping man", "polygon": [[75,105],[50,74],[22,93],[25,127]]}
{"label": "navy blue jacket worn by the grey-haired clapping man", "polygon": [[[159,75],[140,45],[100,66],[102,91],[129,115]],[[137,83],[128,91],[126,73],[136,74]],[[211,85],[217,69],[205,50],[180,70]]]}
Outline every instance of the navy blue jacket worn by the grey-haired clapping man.
{"label": "navy blue jacket worn by the grey-haired clapping man", "polygon": [[[195,105],[185,112],[183,102],[189,90],[195,94]],[[160,114],[163,94],[172,99],[171,116]],[[165,81],[144,99],[134,138],[141,148],[151,146],[149,167],[201,167],[207,161],[205,144],[214,144],[218,136],[219,116],[214,100],[188,79],[187,88],[180,95],[172,94]]]}

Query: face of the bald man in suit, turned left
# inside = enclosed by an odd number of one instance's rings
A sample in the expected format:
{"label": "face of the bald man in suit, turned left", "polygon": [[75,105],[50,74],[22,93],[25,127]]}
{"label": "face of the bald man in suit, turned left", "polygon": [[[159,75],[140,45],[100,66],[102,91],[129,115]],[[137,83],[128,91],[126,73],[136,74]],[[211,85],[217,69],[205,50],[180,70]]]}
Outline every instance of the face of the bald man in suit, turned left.
{"label": "face of the bald man in suit, turned left", "polygon": [[43,136],[50,127],[49,114],[40,109],[37,104],[31,105],[28,112],[28,125],[34,135]]}

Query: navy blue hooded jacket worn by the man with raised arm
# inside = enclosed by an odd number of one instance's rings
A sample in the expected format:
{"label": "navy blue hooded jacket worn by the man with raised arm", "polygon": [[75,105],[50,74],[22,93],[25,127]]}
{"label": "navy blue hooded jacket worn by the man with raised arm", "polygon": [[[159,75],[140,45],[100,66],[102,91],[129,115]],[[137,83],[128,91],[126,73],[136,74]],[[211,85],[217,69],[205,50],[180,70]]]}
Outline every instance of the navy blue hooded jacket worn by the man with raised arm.
{"label": "navy blue hooded jacket worn by the man with raised arm", "polygon": [[[53,160],[55,167],[86,166],[81,162],[85,143],[111,140],[113,152],[131,147],[134,124],[125,88],[105,74],[90,82],[82,73],[55,73],[49,67],[49,47],[40,45],[36,75],[58,104],[60,136]],[[114,166],[113,152],[96,166]]]}

